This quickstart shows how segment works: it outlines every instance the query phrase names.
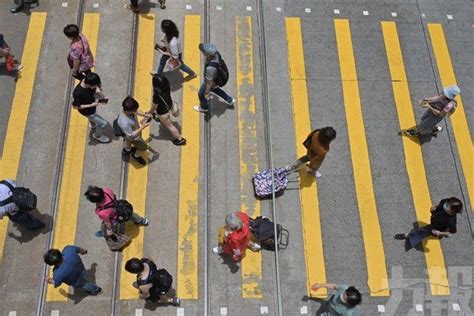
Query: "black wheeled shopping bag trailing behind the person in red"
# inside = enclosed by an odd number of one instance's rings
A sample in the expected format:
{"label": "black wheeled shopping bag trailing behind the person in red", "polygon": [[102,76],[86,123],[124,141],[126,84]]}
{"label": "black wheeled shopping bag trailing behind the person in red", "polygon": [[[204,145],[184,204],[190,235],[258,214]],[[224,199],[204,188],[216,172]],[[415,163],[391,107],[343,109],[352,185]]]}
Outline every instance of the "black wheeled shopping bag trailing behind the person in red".
{"label": "black wheeled shopping bag trailing behind the person in red", "polygon": [[278,245],[278,249],[285,249],[288,246],[289,232],[277,224],[278,235],[275,238],[273,225],[273,222],[265,216],[258,216],[250,220],[250,229],[263,249],[275,251],[276,245]]}

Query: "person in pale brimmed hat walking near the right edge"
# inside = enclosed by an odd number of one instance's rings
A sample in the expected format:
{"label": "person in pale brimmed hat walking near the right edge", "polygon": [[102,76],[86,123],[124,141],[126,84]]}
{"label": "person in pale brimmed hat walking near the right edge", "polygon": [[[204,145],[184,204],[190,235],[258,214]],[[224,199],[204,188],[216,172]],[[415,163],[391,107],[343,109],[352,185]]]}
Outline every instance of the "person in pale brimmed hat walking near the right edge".
{"label": "person in pale brimmed hat walking near the right edge", "polygon": [[420,123],[415,128],[410,128],[405,131],[408,136],[420,136],[431,134],[438,136],[438,133],[443,130],[442,126],[437,125],[443,120],[445,116],[450,116],[454,113],[457,107],[457,102],[454,98],[461,92],[458,86],[449,86],[443,88],[443,91],[437,96],[431,98],[424,98],[418,103],[422,108],[426,108],[425,113],[421,117]]}

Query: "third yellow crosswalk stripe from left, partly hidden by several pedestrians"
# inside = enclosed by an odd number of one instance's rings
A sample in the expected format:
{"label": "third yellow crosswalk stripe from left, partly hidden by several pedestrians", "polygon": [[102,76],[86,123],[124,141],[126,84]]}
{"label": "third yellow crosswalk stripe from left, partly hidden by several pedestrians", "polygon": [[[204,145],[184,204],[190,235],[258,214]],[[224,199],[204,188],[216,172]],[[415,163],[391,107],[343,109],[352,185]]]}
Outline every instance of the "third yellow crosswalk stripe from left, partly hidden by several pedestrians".
{"label": "third yellow crosswalk stripe from left, partly hidden by several pedestrians", "polygon": [[[142,110],[147,110],[151,104],[151,76],[153,69],[153,43],[155,38],[155,14],[140,14],[138,18],[137,53],[135,64],[135,87],[134,98],[140,104]],[[150,137],[150,129],[142,132],[143,139]],[[148,152],[141,153],[148,160]],[[128,168],[127,200],[133,205],[133,211],[140,216],[145,216],[146,192],[148,185],[148,165],[140,166],[131,163]],[[143,226],[127,222],[125,225],[127,235],[133,238],[132,243],[122,252],[122,270],[120,273],[120,299],[138,299],[138,291],[132,286],[136,281],[134,274],[125,271],[125,263],[130,258],[143,257]]]}

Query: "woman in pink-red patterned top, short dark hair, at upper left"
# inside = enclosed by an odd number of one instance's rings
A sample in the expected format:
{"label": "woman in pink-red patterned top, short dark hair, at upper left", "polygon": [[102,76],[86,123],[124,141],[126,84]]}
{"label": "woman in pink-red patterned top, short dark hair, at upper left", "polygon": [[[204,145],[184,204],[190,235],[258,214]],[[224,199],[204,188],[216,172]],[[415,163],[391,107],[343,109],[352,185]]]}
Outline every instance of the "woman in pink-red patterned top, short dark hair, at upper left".
{"label": "woman in pink-red patterned top, short dark hair, at upper left", "polygon": [[71,73],[77,80],[92,73],[94,67],[94,56],[89,46],[89,41],[84,34],[79,33],[79,27],[75,24],[68,24],[64,27],[64,35],[71,40],[67,62]]}

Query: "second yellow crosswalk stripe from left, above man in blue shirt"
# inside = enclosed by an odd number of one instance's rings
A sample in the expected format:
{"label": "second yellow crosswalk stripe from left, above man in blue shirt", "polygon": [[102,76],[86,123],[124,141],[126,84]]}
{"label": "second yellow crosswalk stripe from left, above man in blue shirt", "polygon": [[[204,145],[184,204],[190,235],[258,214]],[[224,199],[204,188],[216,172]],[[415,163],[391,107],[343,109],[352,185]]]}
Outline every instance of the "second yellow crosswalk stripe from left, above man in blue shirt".
{"label": "second yellow crosswalk stripe from left, above man in blue shirt", "polygon": [[[92,54],[95,56],[99,35],[100,15],[86,13],[82,33],[87,37]],[[73,245],[76,239],[77,214],[81,196],[82,173],[84,167],[84,150],[87,141],[87,119],[77,110],[71,110],[66,140],[59,203],[54,227],[53,248],[62,250],[64,246]],[[50,271],[51,274],[51,271]],[[67,301],[68,286],[59,288],[48,286],[46,301]]]}

